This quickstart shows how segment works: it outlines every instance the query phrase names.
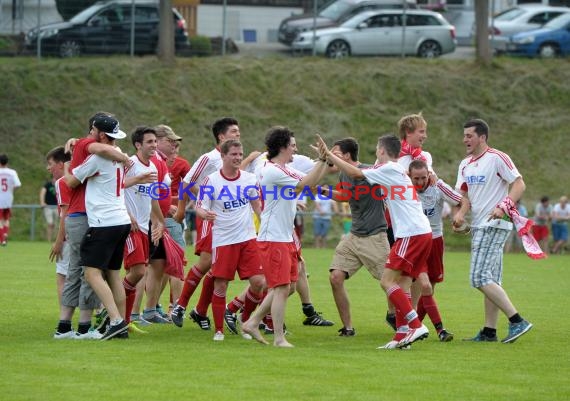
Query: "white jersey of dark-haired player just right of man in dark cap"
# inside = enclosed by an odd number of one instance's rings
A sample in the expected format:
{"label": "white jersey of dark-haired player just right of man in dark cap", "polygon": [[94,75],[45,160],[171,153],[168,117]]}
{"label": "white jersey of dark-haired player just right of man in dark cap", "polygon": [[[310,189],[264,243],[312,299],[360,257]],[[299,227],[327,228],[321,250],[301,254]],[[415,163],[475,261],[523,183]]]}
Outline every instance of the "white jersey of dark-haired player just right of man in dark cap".
{"label": "white jersey of dark-haired player just right of man in dark cap", "polygon": [[[145,173],[158,174],[158,169],[152,161],[144,164],[137,155],[131,156],[133,166],[127,171],[125,177],[136,177]],[[135,218],[139,229],[148,234],[150,211],[152,209],[152,198],[150,190],[152,184],[135,184],[125,189],[125,204],[130,215]]]}

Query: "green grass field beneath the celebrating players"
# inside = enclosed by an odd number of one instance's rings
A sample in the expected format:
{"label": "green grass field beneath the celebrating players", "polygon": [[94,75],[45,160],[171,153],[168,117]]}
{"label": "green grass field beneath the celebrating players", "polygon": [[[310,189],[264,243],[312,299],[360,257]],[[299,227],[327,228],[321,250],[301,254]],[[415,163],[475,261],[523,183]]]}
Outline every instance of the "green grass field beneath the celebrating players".
{"label": "green grass field beneath the celebrating players", "polygon": [[[185,322],[128,341],[56,341],[55,267],[49,245],[0,248],[1,400],[563,400],[570,399],[567,256],[506,257],[505,286],[533,330],[514,344],[467,343],[483,302],[469,287],[467,253],[446,255],[437,298],[456,340],[432,335],[410,351],[383,351],[392,333],[385,300],[366,271],[347,282],[357,336],[341,338],[328,284],[329,250],[304,250],[313,302],[332,328],[305,327],[298,296],[286,322],[294,349],[276,349]],[[242,287],[230,288],[233,296]],[[196,301],[197,295],[191,300]],[[506,335],[501,318],[499,337]],[[428,324],[430,329],[431,324]]]}

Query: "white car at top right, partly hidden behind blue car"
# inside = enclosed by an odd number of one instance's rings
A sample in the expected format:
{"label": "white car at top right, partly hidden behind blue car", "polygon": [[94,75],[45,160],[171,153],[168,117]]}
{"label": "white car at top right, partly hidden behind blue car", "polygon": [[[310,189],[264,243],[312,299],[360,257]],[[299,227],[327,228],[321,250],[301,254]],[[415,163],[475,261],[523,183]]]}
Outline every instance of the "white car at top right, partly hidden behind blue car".
{"label": "white car at top right, partly hidden behind blue car", "polygon": [[540,28],[559,15],[569,12],[568,7],[550,7],[542,4],[524,4],[509,8],[497,14],[492,20],[491,47],[498,53],[504,52],[510,36]]}

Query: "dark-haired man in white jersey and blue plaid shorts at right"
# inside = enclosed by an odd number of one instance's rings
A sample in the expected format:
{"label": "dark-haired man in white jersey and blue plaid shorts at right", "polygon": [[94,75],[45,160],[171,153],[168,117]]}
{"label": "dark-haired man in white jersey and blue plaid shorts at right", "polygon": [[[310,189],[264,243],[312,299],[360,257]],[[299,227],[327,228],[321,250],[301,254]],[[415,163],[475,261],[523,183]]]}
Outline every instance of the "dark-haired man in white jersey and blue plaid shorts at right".
{"label": "dark-haired man in white jersey and blue plaid shorts at right", "polygon": [[[488,145],[489,126],[481,119],[463,125],[467,158],[459,164],[455,188],[471,203],[471,286],[485,297],[485,326],[471,341],[497,341],[499,310],[509,319],[509,334],[503,343],[515,341],[532,328],[524,320],[502,287],[503,247],[513,223],[498,207],[517,202],[526,188],[511,158]],[[509,198],[509,199],[507,199]],[[454,225],[464,223],[459,211]]]}

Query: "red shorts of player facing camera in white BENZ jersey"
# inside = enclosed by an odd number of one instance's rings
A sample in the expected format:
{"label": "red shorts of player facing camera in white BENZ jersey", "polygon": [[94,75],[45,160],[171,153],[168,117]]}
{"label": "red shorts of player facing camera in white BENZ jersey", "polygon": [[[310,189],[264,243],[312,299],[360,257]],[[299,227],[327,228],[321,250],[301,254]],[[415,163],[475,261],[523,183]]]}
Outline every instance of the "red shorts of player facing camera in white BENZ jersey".
{"label": "red shorts of player facing camera in white BENZ jersey", "polygon": [[240,280],[263,274],[255,239],[212,249],[212,275],[214,277],[232,281],[236,271]]}

